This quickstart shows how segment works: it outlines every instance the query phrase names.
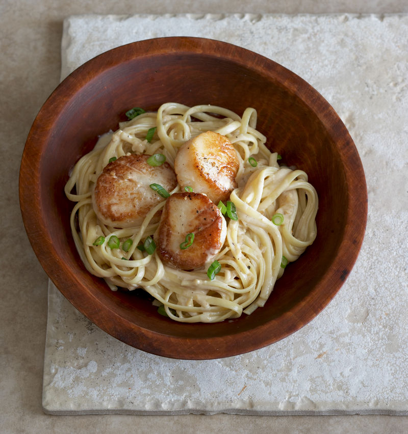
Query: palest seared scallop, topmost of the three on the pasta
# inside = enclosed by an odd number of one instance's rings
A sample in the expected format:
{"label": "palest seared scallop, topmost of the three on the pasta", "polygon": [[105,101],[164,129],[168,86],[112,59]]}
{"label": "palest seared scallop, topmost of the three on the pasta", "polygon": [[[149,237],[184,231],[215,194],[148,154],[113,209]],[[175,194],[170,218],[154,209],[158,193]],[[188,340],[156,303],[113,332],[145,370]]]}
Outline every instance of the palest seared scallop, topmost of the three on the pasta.
{"label": "palest seared scallop, topmost of the three on the pasta", "polygon": [[232,143],[214,131],[202,132],[184,143],[174,161],[177,181],[196,193],[206,194],[214,203],[230,197],[237,187],[239,160]]}

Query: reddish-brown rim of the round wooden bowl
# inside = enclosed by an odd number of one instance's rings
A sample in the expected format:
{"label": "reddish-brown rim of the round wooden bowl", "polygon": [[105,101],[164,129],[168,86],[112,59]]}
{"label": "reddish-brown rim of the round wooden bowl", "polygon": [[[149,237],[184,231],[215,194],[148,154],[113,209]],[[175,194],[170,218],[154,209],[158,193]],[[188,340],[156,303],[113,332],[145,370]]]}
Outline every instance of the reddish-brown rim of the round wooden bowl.
{"label": "reddish-brown rim of the round wooden bowl", "polygon": [[[354,176],[350,179],[351,184],[349,185],[349,190],[353,191],[353,195],[348,195],[349,206],[347,207],[347,221],[349,222],[349,224],[347,224],[344,233],[344,239],[352,238],[355,240],[353,243],[353,248],[350,250],[349,245],[340,246],[334,263],[330,267],[330,270],[328,270],[328,272],[324,276],[322,276],[322,279],[317,285],[317,287],[308,296],[304,297],[301,302],[296,304],[290,312],[287,312],[285,319],[285,328],[282,329],[282,332],[277,338],[274,337],[272,339],[268,339],[268,329],[276,327],[276,323],[274,321],[270,321],[260,325],[256,329],[256,331],[252,329],[250,331],[239,333],[240,341],[244,342],[244,345],[240,346],[236,345],[237,335],[211,337],[208,339],[182,338],[164,334],[158,335],[157,333],[150,330],[135,326],[135,324],[132,324],[129,321],[127,321],[126,327],[129,327],[129,330],[135,332],[134,337],[132,337],[132,334],[129,333],[126,335],[125,338],[123,338],[123,334],[119,336],[115,330],[105,327],[104,323],[100,323],[100,321],[98,321],[97,319],[98,317],[89,314],[89,312],[84,312],[83,310],[83,305],[86,305],[86,302],[90,302],[94,305],[96,304],[97,309],[109,310],[106,306],[100,304],[98,300],[95,300],[93,297],[92,300],[89,300],[89,294],[84,294],[80,291],[75,291],[75,293],[73,294],[70,290],[67,290],[67,286],[69,285],[66,285],[66,280],[71,279],[72,281],[74,281],[75,284],[78,284],[79,282],[75,280],[75,277],[66,276],[63,273],[56,274],[54,272],[54,268],[49,261],[50,257],[57,257],[57,252],[53,247],[52,237],[46,231],[45,226],[36,225],[36,223],[38,223],[39,219],[41,218],[41,210],[36,203],[28,203],[26,200],[24,200],[24,198],[30,196],[30,192],[27,191],[27,183],[23,183],[21,182],[21,180],[24,177],[24,174],[27,173],[28,170],[30,170],[31,173],[35,174],[37,180],[34,188],[40,188],[39,169],[41,166],[42,156],[40,153],[37,153],[37,158],[33,159],[32,154],[29,151],[30,148],[33,146],[41,146],[41,143],[32,143],[31,137],[33,137],[34,135],[38,137],[38,131],[41,129],[41,123],[44,117],[47,117],[49,119],[50,116],[58,116],[59,109],[63,107],[64,104],[67,103],[67,101],[69,101],[70,95],[72,95],[72,89],[73,92],[75,92],[81,88],[83,82],[81,80],[77,81],[77,77],[83,76],[84,74],[96,76],[100,73],[103,73],[105,69],[120,64],[120,60],[117,59],[121,59],[121,56],[113,57],[113,59],[115,60],[112,61],[112,57],[110,56],[111,52],[115,51],[116,53],[120,54],[120,52],[123,51],[127,54],[127,56],[129,56],[129,46],[131,46],[133,54],[131,55],[132,57],[128,57],[127,60],[138,58],[141,56],[141,53],[143,53],[143,55],[146,55],[147,52],[148,56],[160,56],[163,54],[170,56],[172,53],[180,52],[180,50],[182,50],[183,52],[193,53],[197,55],[210,52],[212,55],[223,57],[224,59],[231,60],[236,64],[240,64],[246,68],[250,68],[251,65],[245,63],[245,54],[249,50],[239,46],[234,46],[234,50],[231,50],[231,45],[232,44],[226,42],[216,41],[207,38],[166,37],[133,42],[131,44],[122,45],[102,53],[101,55],[91,59],[90,61],[86,62],[84,65],[73,71],[45,101],[32,125],[27,142],[25,143],[21,159],[19,197],[23,223],[27,231],[28,238],[31,242],[32,248],[50,280],[56,285],[56,287],[61,291],[61,293],[64,294],[64,296],[71,302],[73,306],[75,306],[84,315],[86,315],[88,319],[94,322],[99,328],[131,346],[147,352],[151,352],[152,354],[156,354],[159,356],[202,360],[230,357],[262,348],[289,336],[290,334],[299,330],[305,324],[309,323],[314,317],[318,315],[318,313],[320,313],[321,310],[323,310],[327,306],[327,304],[336,295],[336,293],[344,283],[351,268],[353,267],[361,249],[367,222],[367,187],[363,166],[361,164],[358,151],[356,150],[355,145],[346,127],[339,119],[333,107],[331,107],[330,104],[311,85],[305,82],[298,75],[268,58],[265,58],[257,53],[252,53],[252,55],[255,54],[260,60],[262,60],[258,63],[257,66],[259,68],[258,70],[261,70],[260,72],[263,75],[270,76],[274,80],[279,81],[279,76],[277,76],[276,72],[271,72],[276,71],[277,69],[281,72],[284,72],[283,76],[286,80],[285,86],[289,86],[292,92],[294,92],[295,94],[299,94],[300,90],[307,89],[308,92],[304,92],[302,94],[302,98],[305,103],[308,104],[312,111],[315,111],[317,113],[318,108],[319,110],[321,110],[323,104],[324,111],[321,114],[320,120],[324,127],[327,129],[330,136],[334,135],[336,137],[339,134],[340,125],[340,128],[342,128],[341,134],[343,135],[343,137],[346,137],[347,140],[347,158],[353,158],[353,171],[356,171],[356,173],[354,173]],[[271,68],[272,65],[273,68]],[[288,77],[290,78],[289,81]],[[69,89],[67,86],[65,86],[67,80],[69,80]],[[76,88],[75,83],[78,83],[78,87]],[[70,92],[70,95],[68,95],[67,93],[68,90]],[[43,137],[43,143],[46,143],[48,137],[47,133],[43,134]],[[344,161],[344,163],[346,164],[346,160]],[[352,210],[356,207],[362,209],[360,219],[352,218]],[[33,230],[34,227],[38,228],[38,230]],[[41,240],[41,242],[38,242],[38,240]],[[46,251],[43,246],[46,246]],[[345,249],[347,249],[347,252],[345,251]],[[341,264],[340,262],[338,263],[339,257],[342,257]],[[346,260],[344,259],[345,257]],[[341,269],[339,267],[341,267]],[[335,284],[333,284],[333,273],[336,272],[338,274],[339,269],[340,271],[343,270],[343,277],[341,279],[336,279]],[[310,309],[308,307],[308,304],[310,300],[315,297],[317,293],[316,291],[319,291],[320,305],[319,309],[314,310]],[[112,314],[112,311],[110,311],[110,313]],[[126,323],[123,318],[121,318],[121,321],[123,323]],[[262,336],[262,338],[257,339],[254,338],[254,336]],[[141,337],[143,339],[140,339]],[[157,344],[154,348],[149,346],[148,342],[151,338],[154,338],[156,342],[160,343],[159,347],[157,346]],[[208,344],[210,341],[211,348],[213,348],[211,354],[206,347],[206,344]],[[169,342],[171,342],[171,345],[169,345]],[[183,351],[184,349],[188,349],[188,351]]]}

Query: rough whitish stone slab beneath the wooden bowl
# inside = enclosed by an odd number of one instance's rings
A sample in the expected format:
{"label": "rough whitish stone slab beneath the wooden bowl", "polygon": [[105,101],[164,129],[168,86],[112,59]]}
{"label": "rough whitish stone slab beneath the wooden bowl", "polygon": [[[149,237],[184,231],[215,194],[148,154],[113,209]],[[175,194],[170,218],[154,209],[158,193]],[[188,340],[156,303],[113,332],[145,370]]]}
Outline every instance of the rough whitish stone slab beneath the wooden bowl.
{"label": "rough whitish stone slab beneath the wooden bowl", "polygon": [[257,51],[334,106],[367,177],[361,254],[335,299],[303,329],[211,361],[127,346],[50,285],[44,411],[408,415],[408,16],[74,16],[64,23],[61,77],[109,48],[160,36]]}

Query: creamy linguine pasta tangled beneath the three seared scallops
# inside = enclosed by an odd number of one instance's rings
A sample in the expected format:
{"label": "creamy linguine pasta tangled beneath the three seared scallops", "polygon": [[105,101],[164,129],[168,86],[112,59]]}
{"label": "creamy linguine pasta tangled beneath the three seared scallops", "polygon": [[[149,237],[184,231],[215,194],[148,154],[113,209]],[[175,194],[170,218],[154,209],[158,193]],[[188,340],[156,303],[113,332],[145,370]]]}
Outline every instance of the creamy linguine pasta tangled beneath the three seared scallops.
{"label": "creamy linguine pasta tangled beneath the three seared scallops", "polygon": [[[213,105],[165,103],[157,112],[142,113],[103,135],[74,166],[65,186],[66,196],[75,202],[72,236],[87,270],[104,278],[112,290],[143,288],[176,321],[222,321],[264,306],[286,263],[295,261],[314,241],[318,198],[305,172],[279,166],[278,154],[266,147],[256,123],[253,108],[240,117]],[[163,209],[165,198],[139,226],[129,228],[103,224],[92,206],[94,185],[113,158],[159,153],[174,167],[177,150],[205,131],[230,140],[239,160],[238,187],[229,199],[237,220],[225,219],[225,242],[214,258],[221,267],[212,278],[210,264],[177,269],[164,263],[157,251],[139,249],[148,237],[154,239],[159,225],[154,216]],[[150,140],[148,133],[153,134]],[[180,192],[177,184],[169,193]],[[110,239],[118,240],[116,247],[109,246]]]}

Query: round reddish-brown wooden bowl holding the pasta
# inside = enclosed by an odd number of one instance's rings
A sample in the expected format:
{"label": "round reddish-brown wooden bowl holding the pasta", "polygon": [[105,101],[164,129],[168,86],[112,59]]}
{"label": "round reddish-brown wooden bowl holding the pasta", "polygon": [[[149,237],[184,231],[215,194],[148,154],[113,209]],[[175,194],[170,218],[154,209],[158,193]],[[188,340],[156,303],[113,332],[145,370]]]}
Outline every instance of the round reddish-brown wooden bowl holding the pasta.
{"label": "round reddish-brown wooden bowl holding the pasta", "polygon": [[[258,111],[258,129],[319,195],[314,244],[285,271],[265,307],[214,324],[157,313],[143,291],[112,292],[75,249],[64,195],[69,170],[130,107],[164,102]],[[299,330],[334,297],[358,256],[367,218],[364,172],[327,101],[303,79],[246,49],[201,38],[151,39],[110,50],[69,75],[41,108],[25,144],[20,206],[31,245],[65,297],[98,327],[152,354],[214,359],[272,344]]]}

